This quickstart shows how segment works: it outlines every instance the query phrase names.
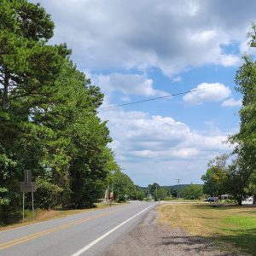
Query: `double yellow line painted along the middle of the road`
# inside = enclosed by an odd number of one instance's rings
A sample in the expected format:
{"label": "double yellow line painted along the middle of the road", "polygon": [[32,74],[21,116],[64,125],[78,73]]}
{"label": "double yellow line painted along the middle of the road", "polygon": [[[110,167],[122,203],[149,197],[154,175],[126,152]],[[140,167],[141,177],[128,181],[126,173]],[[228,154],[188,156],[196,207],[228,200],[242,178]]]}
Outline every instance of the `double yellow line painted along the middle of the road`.
{"label": "double yellow line painted along the middle of the road", "polygon": [[97,215],[89,217],[89,218],[82,218],[82,219],[79,219],[79,220],[76,220],[76,221],[73,221],[73,222],[70,222],[70,223],[67,223],[67,224],[62,224],[62,225],[57,226],[53,229],[44,230],[44,231],[41,231],[41,232],[38,232],[38,233],[33,233],[31,235],[28,235],[28,236],[22,236],[18,239],[12,240],[12,241],[4,242],[4,243],[0,244],[0,250],[3,250],[3,249],[8,248],[8,247],[13,247],[17,244],[20,244],[20,243],[25,242],[25,241],[30,241],[30,240],[38,238],[40,236],[45,236],[45,235],[48,235],[50,233],[54,233],[55,231],[58,231],[58,230],[65,230],[65,229],[69,228],[70,226],[80,224],[80,223],[89,221],[91,219],[107,216],[107,215],[109,215],[113,212],[118,212],[118,210],[112,211],[112,212],[105,212],[105,213],[102,213],[102,214],[97,214]]}

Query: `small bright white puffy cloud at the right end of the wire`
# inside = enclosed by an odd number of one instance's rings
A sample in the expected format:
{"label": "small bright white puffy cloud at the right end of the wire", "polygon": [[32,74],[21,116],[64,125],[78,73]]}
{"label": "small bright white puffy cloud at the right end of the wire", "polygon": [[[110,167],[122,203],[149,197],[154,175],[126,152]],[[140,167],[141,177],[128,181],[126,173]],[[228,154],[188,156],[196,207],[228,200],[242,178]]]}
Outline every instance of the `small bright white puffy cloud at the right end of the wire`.
{"label": "small bright white puffy cloud at the right end of the wire", "polygon": [[192,105],[199,105],[203,102],[221,102],[231,96],[231,90],[224,84],[202,83],[183,96],[183,101]]}

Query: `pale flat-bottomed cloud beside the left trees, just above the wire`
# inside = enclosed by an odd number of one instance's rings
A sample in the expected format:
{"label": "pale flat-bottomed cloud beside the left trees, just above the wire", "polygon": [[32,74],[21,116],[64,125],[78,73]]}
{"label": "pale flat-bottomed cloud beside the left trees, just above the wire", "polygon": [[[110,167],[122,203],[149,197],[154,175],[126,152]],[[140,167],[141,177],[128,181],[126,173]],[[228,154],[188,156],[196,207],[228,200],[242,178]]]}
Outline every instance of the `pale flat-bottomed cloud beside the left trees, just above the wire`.
{"label": "pale flat-bottomed cloud beside the left trees, just above the wire", "polygon": [[[103,91],[113,92],[119,90],[127,95],[139,96],[166,96],[163,90],[155,90],[153,80],[147,79],[144,75],[112,73],[109,75],[99,75],[96,83]],[[127,98],[125,99],[127,100]]]}

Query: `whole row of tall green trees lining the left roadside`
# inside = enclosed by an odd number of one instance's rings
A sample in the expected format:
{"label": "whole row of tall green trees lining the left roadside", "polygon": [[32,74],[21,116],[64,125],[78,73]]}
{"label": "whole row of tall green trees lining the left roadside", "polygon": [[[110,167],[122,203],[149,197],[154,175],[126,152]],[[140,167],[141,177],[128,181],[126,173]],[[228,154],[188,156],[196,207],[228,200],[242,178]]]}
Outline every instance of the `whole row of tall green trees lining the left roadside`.
{"label": "whole row of tall green trees lining the left roadside", "polygon": [[0,224],[20,219],[26,170],[43,209],[91,207],[110,181],[118,201],[139,196],[108,148],[102,92],[49,44],[54,26],[39,4],[0,1]]}

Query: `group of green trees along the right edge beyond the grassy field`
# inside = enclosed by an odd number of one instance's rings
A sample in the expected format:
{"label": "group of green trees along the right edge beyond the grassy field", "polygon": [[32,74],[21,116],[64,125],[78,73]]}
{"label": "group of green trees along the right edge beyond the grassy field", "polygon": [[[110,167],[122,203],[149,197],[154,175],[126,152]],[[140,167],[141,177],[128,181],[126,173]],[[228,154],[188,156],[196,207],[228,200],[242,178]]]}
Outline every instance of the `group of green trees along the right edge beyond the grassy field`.
{"label": "group of green trees along the right edge beyond the grassy field", "polygon": [[[255,24],[247,36],[249,46],[256,47]],[[240,129],[228,141],[235,149],[230,155],[209,161],[207,172],[201,177],[205,193],[230,194],[239,205],[247,195],[253,195],[256,203],[256,61],[249,55],[244,55],[243,61],[235,78],[236,90],[242,94]]]}

